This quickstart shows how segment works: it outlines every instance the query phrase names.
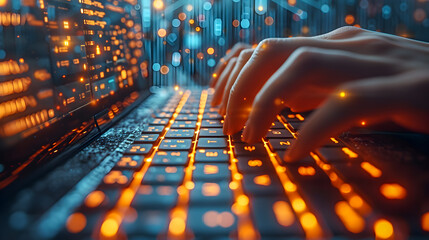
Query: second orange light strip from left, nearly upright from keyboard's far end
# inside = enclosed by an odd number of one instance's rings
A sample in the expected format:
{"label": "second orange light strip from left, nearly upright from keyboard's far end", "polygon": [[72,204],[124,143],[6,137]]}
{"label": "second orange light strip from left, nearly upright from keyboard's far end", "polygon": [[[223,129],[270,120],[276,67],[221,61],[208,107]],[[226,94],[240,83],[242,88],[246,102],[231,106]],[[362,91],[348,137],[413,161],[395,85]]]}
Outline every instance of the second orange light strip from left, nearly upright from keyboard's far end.
{"label": "second orange light strip from left, nearly upright from keyboard's far end", "polygon": [[203,119],[204,108],[207,101],[207,91],[201,93],[200,106],[198,110],[197,127],[195,129],[194,140],[192,142],[192,151],[189,153],[189,163],[185,168],[185,176],[182,185],[177,189],[179,196],[176,207],[171,210],[170,223],[168,225],[168,239],[186,239],[186,220],[188,218],[189,195],[194,189],[195,184],[192,182],[192,173],[194,171],[195,152],[200,134],[201,122]]}

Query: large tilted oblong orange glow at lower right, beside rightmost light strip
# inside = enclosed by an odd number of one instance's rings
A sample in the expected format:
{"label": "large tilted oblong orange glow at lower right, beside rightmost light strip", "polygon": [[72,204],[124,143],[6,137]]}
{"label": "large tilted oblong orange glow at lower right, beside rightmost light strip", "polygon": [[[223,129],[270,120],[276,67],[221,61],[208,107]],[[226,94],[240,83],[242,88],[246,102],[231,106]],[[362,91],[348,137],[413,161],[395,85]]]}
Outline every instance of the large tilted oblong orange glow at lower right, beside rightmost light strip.
{"label": "large tilted oblong orange glow at lower right, beside rightmost light strip", "polygon": [[335,204],[335,213],[350,232],[360,233],[365,229],[365,220],[347,202],[340,201]]}

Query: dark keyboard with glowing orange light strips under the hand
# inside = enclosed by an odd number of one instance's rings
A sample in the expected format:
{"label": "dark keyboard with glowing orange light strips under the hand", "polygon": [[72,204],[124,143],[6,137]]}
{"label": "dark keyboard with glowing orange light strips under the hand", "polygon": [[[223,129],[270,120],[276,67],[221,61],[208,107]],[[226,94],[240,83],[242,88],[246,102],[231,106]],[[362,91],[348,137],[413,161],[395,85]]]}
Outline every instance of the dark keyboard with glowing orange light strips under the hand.
{"label": "dark keyboard with glowing orange light strips under the hand", "polygon": [[223,134],[211,98],[210,90],[177,91],[155,111],[57,238],[427,236],[427,178],[401,178],[338,138],[285,163],[305,114],[285,110],[247,144],[241,133]]}

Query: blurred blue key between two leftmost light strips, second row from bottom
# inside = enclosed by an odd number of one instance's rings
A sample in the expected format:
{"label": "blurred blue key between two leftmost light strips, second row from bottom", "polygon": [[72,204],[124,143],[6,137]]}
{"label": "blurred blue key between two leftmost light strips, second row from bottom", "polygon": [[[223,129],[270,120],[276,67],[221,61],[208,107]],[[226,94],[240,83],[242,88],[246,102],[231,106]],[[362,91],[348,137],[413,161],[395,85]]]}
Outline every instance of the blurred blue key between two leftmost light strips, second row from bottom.
{"label": "blurred blue key between two leftmost light strips, second row from bottom", "polygon": [[141,185],[131,203],[135,209],[169,209],[177,201],[176,187],[169,185]]}

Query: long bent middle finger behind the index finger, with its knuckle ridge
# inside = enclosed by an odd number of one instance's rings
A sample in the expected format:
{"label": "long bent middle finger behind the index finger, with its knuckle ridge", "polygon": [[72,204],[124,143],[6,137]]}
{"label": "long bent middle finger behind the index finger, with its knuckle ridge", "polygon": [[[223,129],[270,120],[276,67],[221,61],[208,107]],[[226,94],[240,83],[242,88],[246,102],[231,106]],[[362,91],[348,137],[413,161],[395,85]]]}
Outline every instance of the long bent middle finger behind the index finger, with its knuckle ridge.
{"label": "long bent middle finger behind the index finger, with its knuckle ridge", "polygon": [[[361,31],[367,33],[367,31]],[[362,44],[367,45],[362,49]],[[365,38],[355,34],[351,39],[326,40],[317,36],[268,39],[261,42],[231,88],[224,123],[226,133],[234,134],[244,126],[256,94],[289,55],[303,46],[363,52],[371,55],[374,55],[372,51],[389,52],[394,47],[391,42],[378,36],[377,33],[371,36],[365,35]]]}

